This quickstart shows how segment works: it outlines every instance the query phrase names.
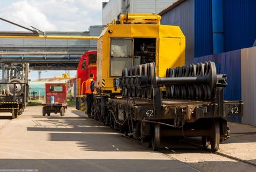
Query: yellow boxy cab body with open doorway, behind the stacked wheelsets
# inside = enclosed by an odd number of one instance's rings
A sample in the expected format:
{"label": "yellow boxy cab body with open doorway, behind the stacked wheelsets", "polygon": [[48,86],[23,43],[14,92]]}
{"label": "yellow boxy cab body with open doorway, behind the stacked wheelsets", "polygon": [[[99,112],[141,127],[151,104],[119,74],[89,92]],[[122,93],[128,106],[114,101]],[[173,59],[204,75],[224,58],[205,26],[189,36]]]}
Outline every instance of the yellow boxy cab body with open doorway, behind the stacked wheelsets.
{"label": "yellow boxy cab body with open doorway, behind the stacked wheelsets", "polygon": [[[160,15],[122,14],[101,32],[97,41],[97,88],[101,93],[114,90],[114,78],[123,68],[155,62],[156,74],[185,65],[185,36],[177,26],[161,25]],[[99,91],[98,90],[98,91]]]}

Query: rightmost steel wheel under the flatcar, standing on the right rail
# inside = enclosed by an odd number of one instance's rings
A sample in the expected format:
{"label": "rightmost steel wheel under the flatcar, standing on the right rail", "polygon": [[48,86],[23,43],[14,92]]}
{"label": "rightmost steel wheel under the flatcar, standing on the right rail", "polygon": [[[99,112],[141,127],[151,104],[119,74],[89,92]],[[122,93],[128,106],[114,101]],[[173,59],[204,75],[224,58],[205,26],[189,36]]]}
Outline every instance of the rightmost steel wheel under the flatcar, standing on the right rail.
{"label": "rightmost steel wheel under the flatcar, standing on the right rail", "polygon": [[219,123],[215,121],[214,126],[212,127],[212,136],[211,136],[211,150],[217,151],[219,148]]}

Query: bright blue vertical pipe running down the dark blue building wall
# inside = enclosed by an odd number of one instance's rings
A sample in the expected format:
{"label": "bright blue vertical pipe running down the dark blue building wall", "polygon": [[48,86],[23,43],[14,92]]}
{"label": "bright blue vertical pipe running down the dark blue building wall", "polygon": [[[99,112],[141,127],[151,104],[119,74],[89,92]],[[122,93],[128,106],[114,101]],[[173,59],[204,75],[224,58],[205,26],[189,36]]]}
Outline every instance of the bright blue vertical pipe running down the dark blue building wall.
{"label": "bright blue vertical pipe running down the dark blue building wall", "polygon": [[212,37],[214,54],[224,52],[223,0],[212,0]]}

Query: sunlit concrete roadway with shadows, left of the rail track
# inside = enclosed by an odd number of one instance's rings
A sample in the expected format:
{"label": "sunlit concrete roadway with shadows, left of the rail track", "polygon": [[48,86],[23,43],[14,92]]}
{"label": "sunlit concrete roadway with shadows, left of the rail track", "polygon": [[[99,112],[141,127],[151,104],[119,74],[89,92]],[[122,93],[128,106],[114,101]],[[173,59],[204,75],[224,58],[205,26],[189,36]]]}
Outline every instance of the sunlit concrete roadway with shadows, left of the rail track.
{"label": "sunlit concrete roadway with shadows, left of the rail track", "polygon": [[153,152],[69,108],[65,117],[42,117],[41,107],[0,129],[0,171],[196,171]]}

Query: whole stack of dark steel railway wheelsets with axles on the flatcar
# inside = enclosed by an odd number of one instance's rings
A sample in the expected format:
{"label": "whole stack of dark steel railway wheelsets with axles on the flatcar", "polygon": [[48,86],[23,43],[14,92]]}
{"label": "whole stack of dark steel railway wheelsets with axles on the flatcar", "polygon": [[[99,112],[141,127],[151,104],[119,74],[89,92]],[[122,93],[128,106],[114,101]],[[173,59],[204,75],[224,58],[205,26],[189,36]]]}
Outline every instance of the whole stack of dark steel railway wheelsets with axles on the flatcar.
{"label": "whole stack of dark steel railway wheelsets with axles on the flatcar", "polygon": [[226,81],[225,75],[216,74],[214,62],[168,68],[165,78],[156,76],[155,63],[152,62],[123,69],[122,78],[114,80],[114,87],[122,88],[123,97],[152,99],[153,88],[165,86],[166,98],[211,100],[216,96],[215,88],[224,87]]}

